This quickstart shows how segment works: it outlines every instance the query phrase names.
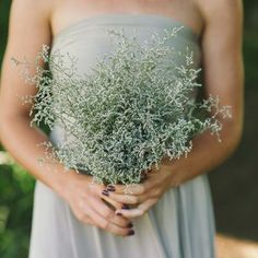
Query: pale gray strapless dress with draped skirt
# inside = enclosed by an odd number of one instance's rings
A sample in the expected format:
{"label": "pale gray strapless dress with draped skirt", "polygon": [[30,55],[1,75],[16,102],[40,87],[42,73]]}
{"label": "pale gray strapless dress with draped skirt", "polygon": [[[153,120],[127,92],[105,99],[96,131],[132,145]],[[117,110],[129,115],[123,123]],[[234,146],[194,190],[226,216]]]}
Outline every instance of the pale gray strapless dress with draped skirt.
{"label": "pale gray strapless dress with draped skirt", "polygon": [[[184,28],[173,44],[177,49],[194,50],[195,66],[200,64],[198,36],[189,26],[159,14],[101,14],[77,22],[54,38],[52,50],[75,56],[79,72],[85,73],[112,49],[106,28],[137,28],[144,40],[153,31]],[[54,142],[62,140],[56,126]],[[136,235],[118,237],[81,223],[68,203],[49,187],[36,180],[30,243],[30,258],[213,258],[215,223],[207,175],[200,175],[177,188],[171,188],[142,218],[136,219]]]}

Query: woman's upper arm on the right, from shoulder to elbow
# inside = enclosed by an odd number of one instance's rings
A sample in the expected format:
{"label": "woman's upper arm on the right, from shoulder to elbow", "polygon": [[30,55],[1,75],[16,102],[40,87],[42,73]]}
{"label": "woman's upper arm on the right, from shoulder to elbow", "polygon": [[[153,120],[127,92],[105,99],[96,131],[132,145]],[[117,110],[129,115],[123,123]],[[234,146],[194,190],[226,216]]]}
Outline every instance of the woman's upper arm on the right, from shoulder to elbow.
{"label": "woman's upper arm on the right, from shoulder to elbow", "polygon": [[242,54],[243,8],[241,0],[199,0],[206,27],[202,64],[207,94],[219,95],[232,107],[232,128],[242,133],[244,69]]}

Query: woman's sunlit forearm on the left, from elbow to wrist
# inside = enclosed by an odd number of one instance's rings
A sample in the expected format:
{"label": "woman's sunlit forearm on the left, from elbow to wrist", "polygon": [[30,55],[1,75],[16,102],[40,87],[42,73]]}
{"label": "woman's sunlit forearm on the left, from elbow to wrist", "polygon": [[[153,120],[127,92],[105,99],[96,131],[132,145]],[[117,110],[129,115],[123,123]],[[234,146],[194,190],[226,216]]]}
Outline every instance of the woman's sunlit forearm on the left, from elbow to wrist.
{"label": "woman's sunlit forearm on the left, from elbow to wrist", "polygon": [[31,175],[61,195],[64,181],[72,175],[63,173],[60,163],[38,162],[46,154],[46,148],[39,143],[48,141],[43,131],[30,127],[30,119],[25,116],[8,117],[0,120],[0,138],[4,148]]}

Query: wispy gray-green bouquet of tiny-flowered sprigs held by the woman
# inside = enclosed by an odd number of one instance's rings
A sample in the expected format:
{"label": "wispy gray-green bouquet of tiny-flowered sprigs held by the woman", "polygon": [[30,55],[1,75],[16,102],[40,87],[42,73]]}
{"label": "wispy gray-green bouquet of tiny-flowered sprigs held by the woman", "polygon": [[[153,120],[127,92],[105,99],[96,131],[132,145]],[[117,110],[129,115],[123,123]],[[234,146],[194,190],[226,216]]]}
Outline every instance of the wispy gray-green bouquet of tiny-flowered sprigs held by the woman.
{"label": "wispy gray-green bouquet of tiny-flowered sprigs held by the woman", "polygon": [[33,103],[32,126],[44,122],[52,130],[59,125],[64,131],[60,143],[46,143],[48,157],[99,183],[128,185],[140,183],[151,166],[159,168],[165,155],[186,156],[192,138],[204,130],[220,140],[218,117],[230,117],[230,107],[221,107],[218,96],[196,102],[202,85],[192,52],[166,44],[179,31],[164,30],[163,37],[153,33],[142,44],[136,35],[109,30],[116,48],[91,74],[78,73],[74,57],[44,46],[36,73],[26,72],[38,91],[25,102]]}

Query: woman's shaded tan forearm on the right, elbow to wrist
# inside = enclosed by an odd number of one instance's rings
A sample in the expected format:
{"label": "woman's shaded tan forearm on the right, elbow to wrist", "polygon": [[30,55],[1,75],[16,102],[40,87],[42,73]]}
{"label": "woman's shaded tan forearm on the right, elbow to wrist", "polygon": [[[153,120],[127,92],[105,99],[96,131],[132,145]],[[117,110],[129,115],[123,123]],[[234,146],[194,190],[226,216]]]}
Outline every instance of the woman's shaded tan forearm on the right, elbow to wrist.
{"label": "woman's shaded tan forearm on the right, elbow to wrist", "polygon": [[242,126],[231,122],[224,126],[220,133],[221,142],[216,136],[211,136],[209,131],[195,137],[192,140],[192,151],[187,157],[176,161],[164,159],[172,169],[172,187],[192,179],[194,177],[208,173],[220,165],[236,149],[242,136]]}

